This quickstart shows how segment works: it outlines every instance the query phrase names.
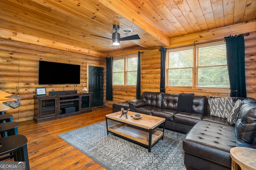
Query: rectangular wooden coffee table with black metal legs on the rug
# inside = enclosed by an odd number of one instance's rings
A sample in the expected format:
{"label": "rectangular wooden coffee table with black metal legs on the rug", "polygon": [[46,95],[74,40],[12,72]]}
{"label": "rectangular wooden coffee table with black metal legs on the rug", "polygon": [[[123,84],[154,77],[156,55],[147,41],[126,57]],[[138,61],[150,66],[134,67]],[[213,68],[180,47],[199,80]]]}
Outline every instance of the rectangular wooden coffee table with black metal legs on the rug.
{"label": "rectangular wooden coffee table with black metal legs on the rug", "polygon": [[[131,115],[140,114],[142,119],[133,119]],[[107,134],[113,133],[118,137],[133,141],[148,148],[151,152],[153,147],[160,139],[164,139],[165,118],[145,115],[128,111],[126,118],[121,111],[106,115]],[[118,124],[108,127],[108,119],[119,122]],[[162,125],[162,131],[156,130]]]}

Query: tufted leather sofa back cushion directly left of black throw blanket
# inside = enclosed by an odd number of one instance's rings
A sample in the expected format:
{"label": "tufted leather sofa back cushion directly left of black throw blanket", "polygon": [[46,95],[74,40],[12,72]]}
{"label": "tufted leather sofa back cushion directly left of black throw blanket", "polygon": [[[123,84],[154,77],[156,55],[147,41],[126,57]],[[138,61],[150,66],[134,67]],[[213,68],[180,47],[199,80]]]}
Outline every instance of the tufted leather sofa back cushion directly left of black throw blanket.
{"label": "tufted leather sofa back cushion directly left of black throw blanket", "polygon": [[179,94],[163,93],[161,107],[177,110]]}

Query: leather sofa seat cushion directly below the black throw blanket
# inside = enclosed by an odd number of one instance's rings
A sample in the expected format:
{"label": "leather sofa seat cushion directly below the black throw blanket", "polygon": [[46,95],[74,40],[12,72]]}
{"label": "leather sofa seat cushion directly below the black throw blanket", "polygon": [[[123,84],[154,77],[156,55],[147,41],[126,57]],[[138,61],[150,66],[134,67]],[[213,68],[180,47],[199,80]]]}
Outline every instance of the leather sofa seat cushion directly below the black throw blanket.
{"label": "leather sofa seat cushion directly below the black throw blanket", "polygon": [[204,115],[202,114],[179,112],[174,115],[173,121],[176,123],[182,123],[182,124],[193,126],[203,118],[204,118]]}

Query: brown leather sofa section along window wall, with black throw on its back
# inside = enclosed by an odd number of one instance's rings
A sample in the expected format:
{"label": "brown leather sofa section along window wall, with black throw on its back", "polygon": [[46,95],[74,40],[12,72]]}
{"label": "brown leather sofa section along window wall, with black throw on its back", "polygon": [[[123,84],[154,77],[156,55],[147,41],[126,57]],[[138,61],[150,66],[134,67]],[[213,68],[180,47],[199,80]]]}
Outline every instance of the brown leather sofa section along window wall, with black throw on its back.
{"label": "brown leather sofa section along window wall, with black throw on its back", "polygon": [[140,100],[128,102],[130,111],[164,117],[165,128],[181,133],[202,120],[206,113],[206,96],[194,95],[193,113],[177,111],[179,94],[161,92],[143,92]]}

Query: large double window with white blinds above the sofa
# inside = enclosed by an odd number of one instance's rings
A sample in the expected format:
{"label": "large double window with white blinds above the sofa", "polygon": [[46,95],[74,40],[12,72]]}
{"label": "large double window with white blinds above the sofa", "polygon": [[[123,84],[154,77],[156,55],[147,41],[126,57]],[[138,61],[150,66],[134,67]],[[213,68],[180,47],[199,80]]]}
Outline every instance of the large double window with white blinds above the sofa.
{"label": "large double window with white blinds above the sofa", "polygon": [[201,44],[168,50],[166,86],[229,88],[226,44]]}

